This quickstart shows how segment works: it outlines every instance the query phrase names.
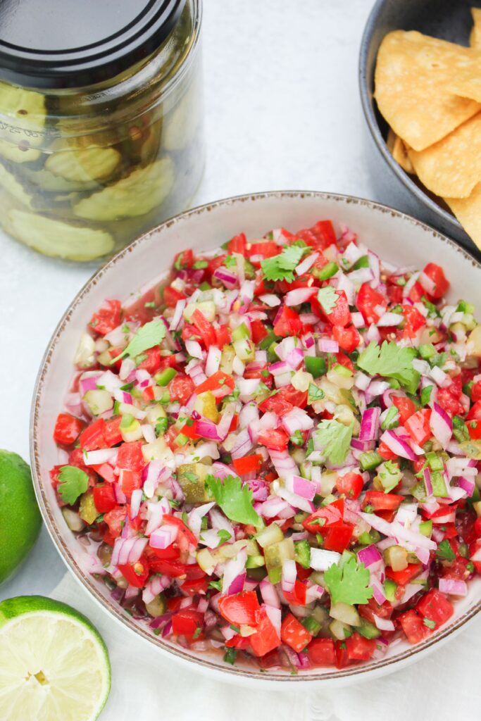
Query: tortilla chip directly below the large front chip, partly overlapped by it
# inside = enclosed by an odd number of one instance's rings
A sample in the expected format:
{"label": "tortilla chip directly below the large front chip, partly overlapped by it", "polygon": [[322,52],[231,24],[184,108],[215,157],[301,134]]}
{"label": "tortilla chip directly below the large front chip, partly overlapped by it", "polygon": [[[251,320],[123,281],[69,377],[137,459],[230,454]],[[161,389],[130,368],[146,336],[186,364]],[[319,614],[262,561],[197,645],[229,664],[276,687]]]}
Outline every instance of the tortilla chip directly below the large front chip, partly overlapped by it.
{"label": "tortilla chip directly below the large front chip, partly overlapped by it", "polygon": [[481,182],[481,112],[446,138],[409,157],[420,181],[442,198],[468,198]]}

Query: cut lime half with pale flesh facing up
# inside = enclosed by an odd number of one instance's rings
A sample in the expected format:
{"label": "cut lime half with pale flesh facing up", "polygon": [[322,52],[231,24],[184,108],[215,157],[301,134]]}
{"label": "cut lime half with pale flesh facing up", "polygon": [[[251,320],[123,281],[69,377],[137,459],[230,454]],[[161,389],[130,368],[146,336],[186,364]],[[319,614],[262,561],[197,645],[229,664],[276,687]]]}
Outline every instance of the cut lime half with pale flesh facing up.
{"label": "cut lime half with pale flesh facing up", "polygon": [[93,721],[109,692],[107,647],[85,616],[43,596],[0,603],[2,721]]}

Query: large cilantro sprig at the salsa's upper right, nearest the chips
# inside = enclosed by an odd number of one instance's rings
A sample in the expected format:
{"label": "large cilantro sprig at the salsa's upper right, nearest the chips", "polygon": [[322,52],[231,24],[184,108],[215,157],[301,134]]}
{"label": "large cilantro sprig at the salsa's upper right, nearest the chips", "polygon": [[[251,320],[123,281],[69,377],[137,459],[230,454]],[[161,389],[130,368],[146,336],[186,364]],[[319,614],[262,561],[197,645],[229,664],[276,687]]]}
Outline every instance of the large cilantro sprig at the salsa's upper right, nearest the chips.
{"label": "large cilantro sprig at the salsa's upper right, nearest the chips", "polygon": [[415,393],[420,381],[420,374],[412,368],[415,357],[414,348],[400,348],[397,343],[384,340],[382,345],[369,343],[359,355],[357,364],[371,376],[395,379],[408,393]]}

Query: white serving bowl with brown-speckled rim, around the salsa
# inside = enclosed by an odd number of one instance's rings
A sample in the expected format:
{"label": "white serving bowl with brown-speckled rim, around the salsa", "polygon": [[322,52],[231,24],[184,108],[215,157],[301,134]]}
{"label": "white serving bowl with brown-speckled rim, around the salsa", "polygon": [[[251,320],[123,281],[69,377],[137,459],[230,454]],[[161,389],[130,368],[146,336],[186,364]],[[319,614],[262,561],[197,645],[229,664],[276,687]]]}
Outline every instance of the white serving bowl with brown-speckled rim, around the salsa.
{"label": "white serving bowl with brown-speckled rim, around the salsa", "polygon": [[[480,265],[451,240],[416,221],[415,218],[372,203],[369,200],[327,193],[259,193],[219,200],[182,213],[144,234],[108,261],[81,289],[61,318],[45,352],[33,397],[31,418],[32,472],[37,500],[45,525],[58,552],[74,576],[102,608],[127,629],[144,638],[164,654],[195,665],[199,671],[217,674],[237,682],[268,684],[311,684],[323,687],[347,686],[397,671],[423,658],[466,626],[481,609],[481,577],[469,584],[466,598],[455,604],[449,624],[438,629],[416,646],[399,642],[381,660],[337,670],[314,668],[296,676],[285,669],[260,673],[252,665],[231,666],[221,655],[187,650],[175,642],[155,636],[143,622],[126,614],[112,600],[110,592],[87,572],[85,552],[66,526],[50,483],[49,469],[58,463],[58,450],[52,439],[53,426],[73,373],[73,358],[81,332],[92,313],[105,298],[127,300],[132,291],[149,286],[149,281],[167,271],[176,252],[192,247],[195,251],[219,247],[244,231],[247,237],[260,237],[266,231],[284,226],[296,231],[330,218],[337,229],[347,224],[363,243],[385,260],[399,266],[423,267],[434,261],[442,265],[451,282],[449,299],[479,299],[477,284]],[[476,298],[477,296],[477,298]]]}

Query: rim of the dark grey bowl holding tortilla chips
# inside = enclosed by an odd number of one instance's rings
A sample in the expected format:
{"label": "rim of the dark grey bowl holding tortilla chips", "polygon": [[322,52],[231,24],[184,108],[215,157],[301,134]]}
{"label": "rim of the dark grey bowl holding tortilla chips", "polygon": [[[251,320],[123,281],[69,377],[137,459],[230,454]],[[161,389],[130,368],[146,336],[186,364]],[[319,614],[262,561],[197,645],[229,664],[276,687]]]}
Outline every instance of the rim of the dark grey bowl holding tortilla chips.
{"label": "rim of the dark grey bowl holding tortilla chips", "polygon": [[413,180],[411,180],[409,174],[407,174],[407,172],[402,169],[400,164],[394,160],[392,154],[387,148],[386,141],[384,140],[379,129],[379,123],[376,120],[376,115],[374,114],[374,109],[371,105],[371,91],[369,88],[370,81],[367,77],[366,65],[372,36],[374,35],[374,30],[376,29],[376,25],[378,22],[379,11],[381,10],[382,6],[387,4],[388,1],[389,0],[376,0],[376,3],[374,4],[371,12],[369,13],[369,17],[366,21],[363,35],[361,37],[361,46],[359,48],[358,60],[358,84],[364,118],[366,119],[366,123],[368,125],[369,132],[371,133],[371,137],[374,139],[374,143],[376,143],[377,148],[381,152],[381,156],[392,169],[394,174],[397,175],[399,180],[402,182],[402,185],[404,185],[407,190],[410,191],[410,193],[415,195],[415,198],[418,198],[418,200],[420,200],[420,202],[423,203],[426,208],[428,208],[430,211],[436,213],[437,216],[442,218],[445,223],[451,224],[451,226],[453,226],[457,232],[464,233],[466,238],[469,239],[469,241],[474,246],[474,241],[464,230],[463,226],[459,223],[459,220],[456,218],[456,216],[444,210],[444,208],[441,208],[441,205],[438,205],[435,200],[431,200],[431,198],[429,198],[429,196],[420,187],[418,187],[418,185],[416,185]]}

